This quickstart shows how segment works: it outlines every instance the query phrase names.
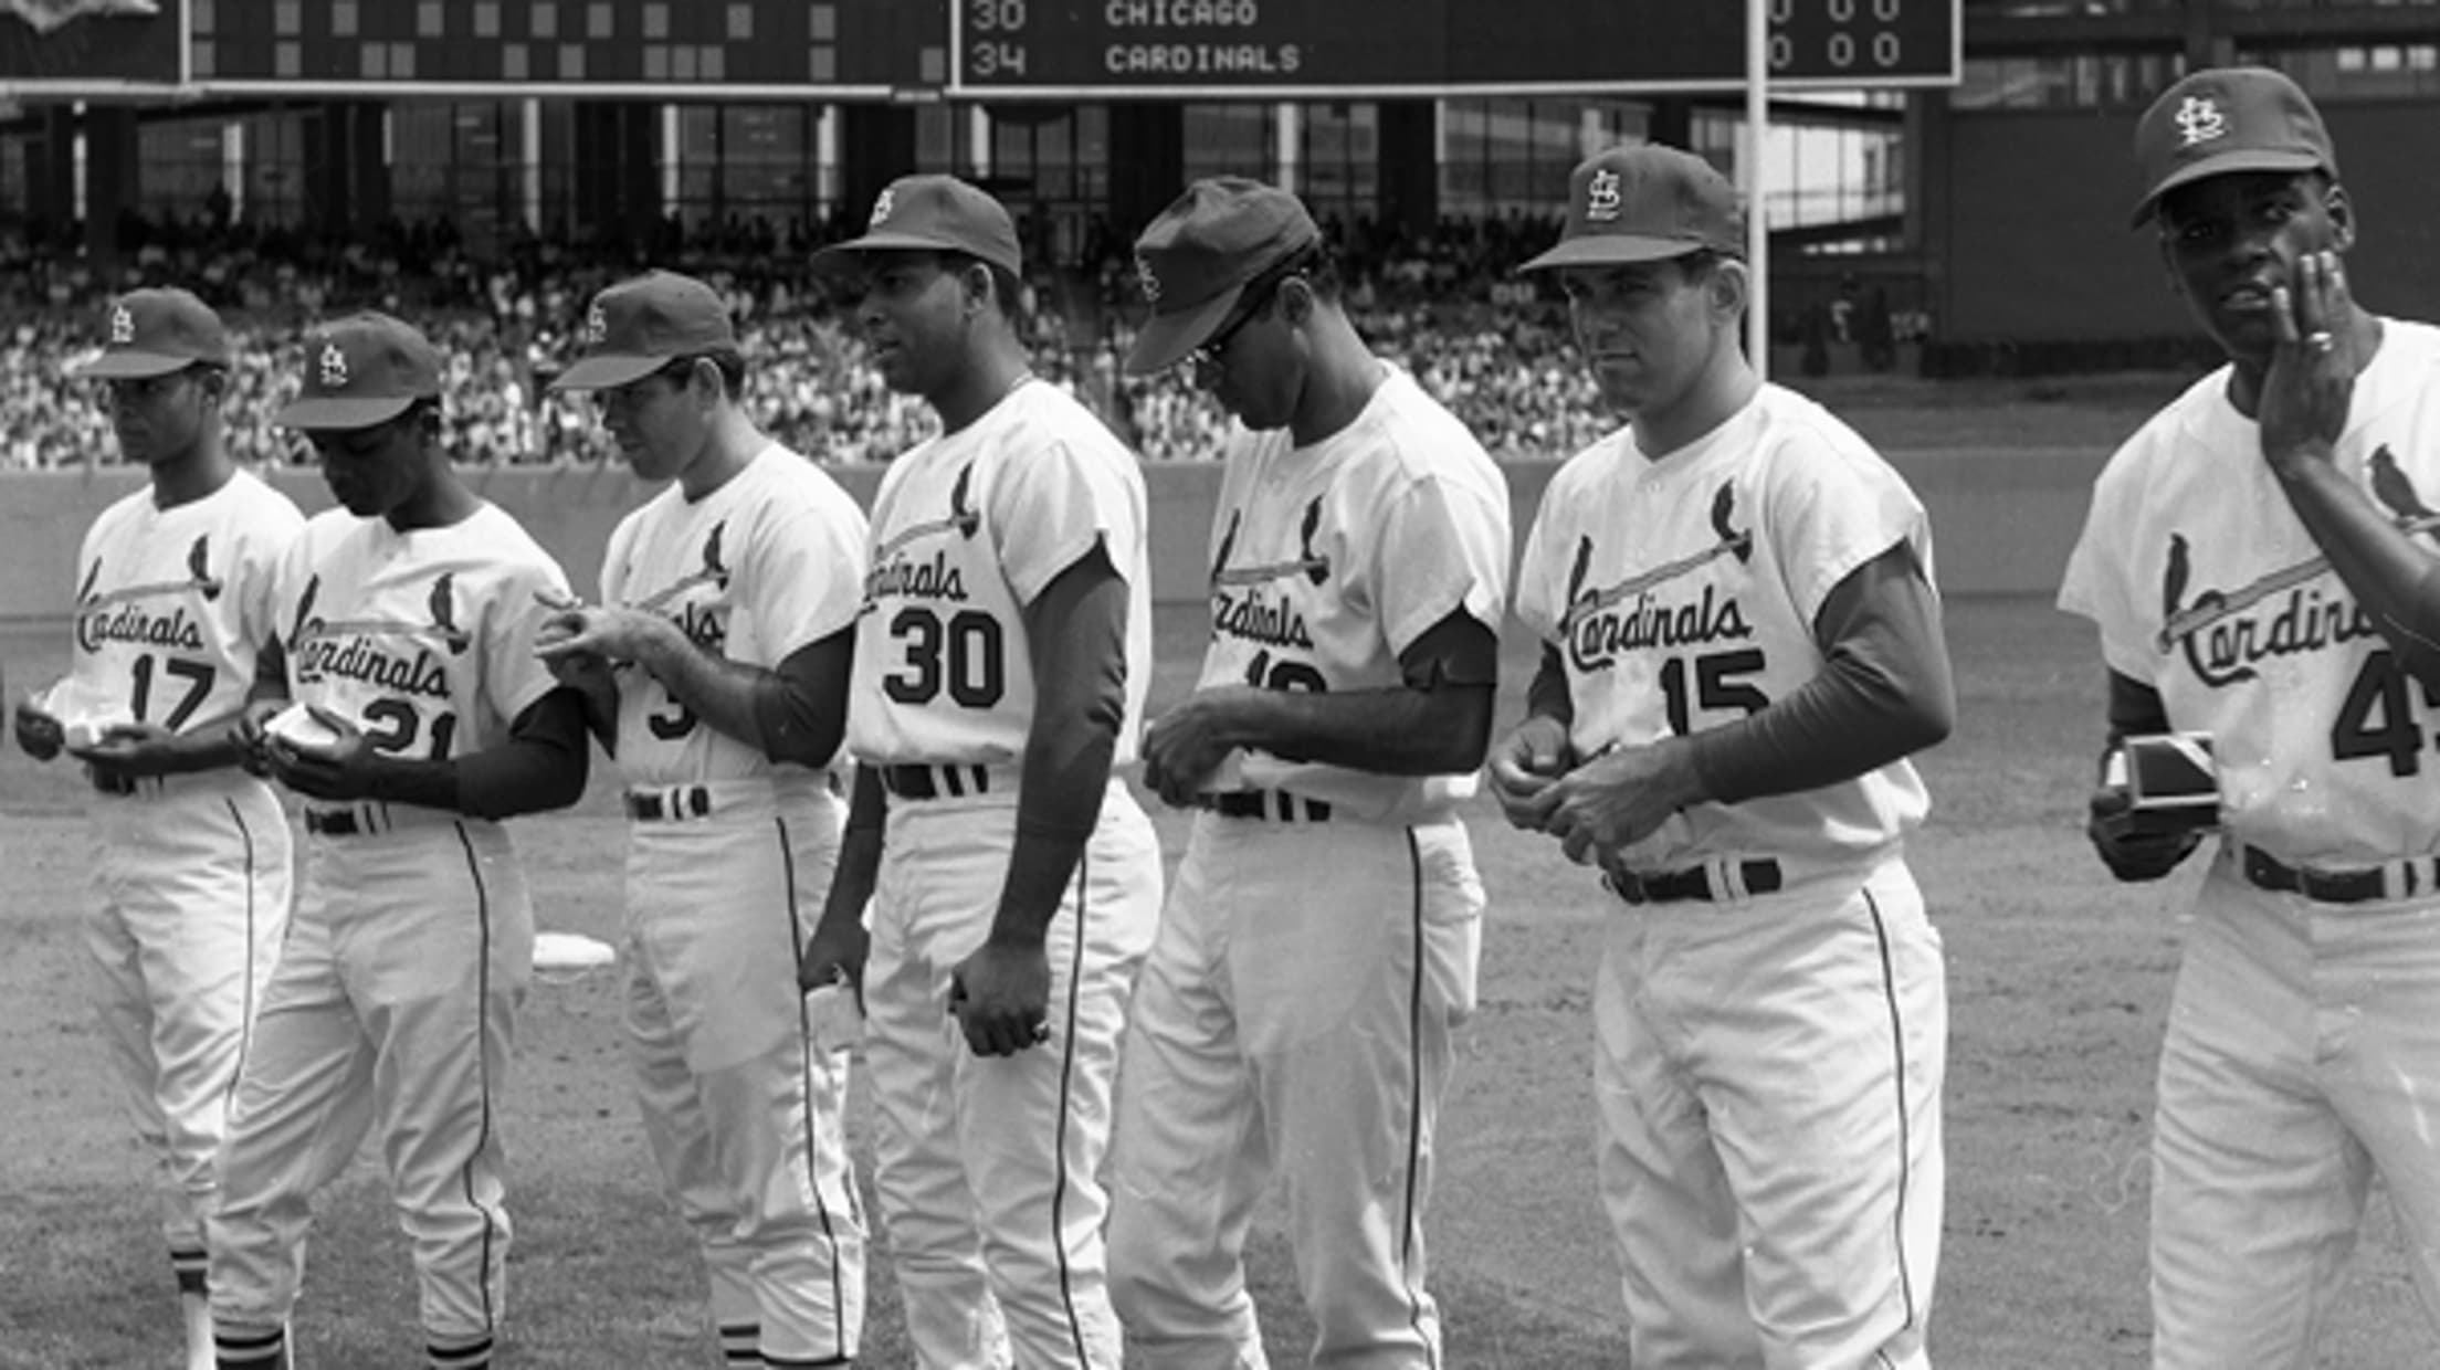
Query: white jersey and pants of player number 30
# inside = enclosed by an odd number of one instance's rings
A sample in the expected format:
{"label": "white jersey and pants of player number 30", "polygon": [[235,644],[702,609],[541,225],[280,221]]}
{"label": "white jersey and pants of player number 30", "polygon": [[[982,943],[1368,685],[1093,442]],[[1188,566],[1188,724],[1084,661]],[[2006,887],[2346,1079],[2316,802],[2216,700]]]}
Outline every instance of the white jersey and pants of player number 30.
{"label": "white jersey and pants of player number 30", "polygon": [[[1049,924],[1049,1041],[966,1051],[949,970],[991,931],[1035,719],[1025,605],[1096,544],[1127,580],[1135,758],[1152,678],[1144,480],[1057,385],[891,463],[874,495],[847,748],[891,778],[864,968],[874,1190],[915,1363],[1115,1368],[1100,1160],[1135,968],[1161,904],[1152,822],[1115,775]],[[922,797],[930,795],[930,797]]]}

